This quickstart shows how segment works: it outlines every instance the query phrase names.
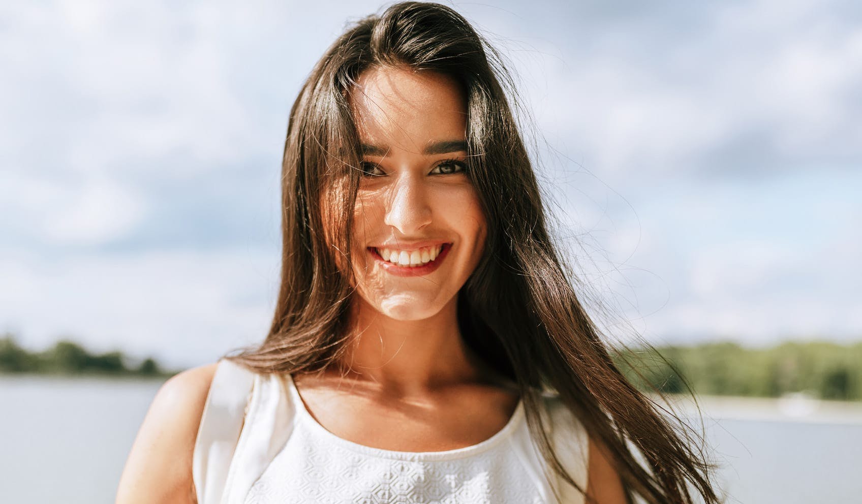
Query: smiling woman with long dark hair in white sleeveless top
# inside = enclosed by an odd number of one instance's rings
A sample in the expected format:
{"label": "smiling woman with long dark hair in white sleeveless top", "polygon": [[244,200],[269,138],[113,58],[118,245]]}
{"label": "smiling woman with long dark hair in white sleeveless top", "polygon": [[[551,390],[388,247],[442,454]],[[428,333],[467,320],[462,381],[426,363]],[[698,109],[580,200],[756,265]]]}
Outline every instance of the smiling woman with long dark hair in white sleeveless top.
{"label": "smiling woman with long dark hair in white sleeveless top", "polygon": [[489,50],[434,3],[329,48],[272,329],[159,390],[118,502],[717,501],[581,308]]}

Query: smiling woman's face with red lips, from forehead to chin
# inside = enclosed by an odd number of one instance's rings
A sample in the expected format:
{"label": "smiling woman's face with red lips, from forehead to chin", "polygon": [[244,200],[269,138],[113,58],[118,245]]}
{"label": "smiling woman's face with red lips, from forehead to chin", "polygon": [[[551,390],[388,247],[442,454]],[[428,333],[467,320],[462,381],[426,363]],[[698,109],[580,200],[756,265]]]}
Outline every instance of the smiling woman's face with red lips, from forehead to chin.
{"label": "smiling woman's face with red lips, from forehead to chin", "polygon": [[350,95],[364,173],[354,208],[359,302],[422,320],[454,302],[481,258],[485,219],[466,170],[466,104],[453,79],[363,72]]}

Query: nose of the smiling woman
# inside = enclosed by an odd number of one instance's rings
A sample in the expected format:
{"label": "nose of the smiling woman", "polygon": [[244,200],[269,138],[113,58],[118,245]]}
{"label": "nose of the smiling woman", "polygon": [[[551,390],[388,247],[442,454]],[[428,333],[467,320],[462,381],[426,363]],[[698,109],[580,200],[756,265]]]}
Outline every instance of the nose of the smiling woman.
{"label": "nose of the smiling woman", "polygon": [[390,187],[384,222],[400,233],[412,236],[431,223],[431,205],[421,177],[403,173]]}

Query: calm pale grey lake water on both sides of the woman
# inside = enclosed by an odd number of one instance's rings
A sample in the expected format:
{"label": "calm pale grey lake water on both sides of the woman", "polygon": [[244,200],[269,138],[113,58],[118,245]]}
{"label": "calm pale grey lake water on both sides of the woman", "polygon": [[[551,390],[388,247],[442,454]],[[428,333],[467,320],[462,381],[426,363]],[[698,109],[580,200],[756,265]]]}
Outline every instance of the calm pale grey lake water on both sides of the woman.
{"label": "calm pale grey lake water on both sides of the woman", "polygon": [[[0,501],[113,502],[160,384],[0,376]],[[862,502],[862,405],[703,398],[701,407],[728,504]]]}

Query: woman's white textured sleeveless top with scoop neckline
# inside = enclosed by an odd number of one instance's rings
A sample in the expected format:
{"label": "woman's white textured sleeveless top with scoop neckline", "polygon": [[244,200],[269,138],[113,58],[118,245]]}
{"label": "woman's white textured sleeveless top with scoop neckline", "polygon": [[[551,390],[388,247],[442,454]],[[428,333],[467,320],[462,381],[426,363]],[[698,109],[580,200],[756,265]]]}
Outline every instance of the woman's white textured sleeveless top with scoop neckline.
{"label": "woman's white textured sleeveless top with scoop neckline", "polygon": [[[559,401],[546,403],[560,462],[586,488],[586,432]],[[259,375],[228,360],[213,376],[192,476],[199,504],[544,504],[556,502],[554,488],[566,504],[584,502],[547,467],[520,402],[478,445],[381,450],[323,428],[290,375]]]}

